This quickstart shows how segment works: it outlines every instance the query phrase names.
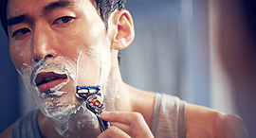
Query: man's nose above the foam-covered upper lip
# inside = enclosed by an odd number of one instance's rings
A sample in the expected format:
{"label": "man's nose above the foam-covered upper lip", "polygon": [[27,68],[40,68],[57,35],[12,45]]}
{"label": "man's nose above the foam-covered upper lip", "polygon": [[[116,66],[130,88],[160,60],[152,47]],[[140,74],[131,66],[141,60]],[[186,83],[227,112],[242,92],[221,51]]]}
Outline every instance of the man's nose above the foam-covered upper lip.
{"label": "man's nose above the foam-covered upper lip", "polygon": [[33,60],[46,60],[56,56],[55,39],[47,26],[36,26],[33,32]]}

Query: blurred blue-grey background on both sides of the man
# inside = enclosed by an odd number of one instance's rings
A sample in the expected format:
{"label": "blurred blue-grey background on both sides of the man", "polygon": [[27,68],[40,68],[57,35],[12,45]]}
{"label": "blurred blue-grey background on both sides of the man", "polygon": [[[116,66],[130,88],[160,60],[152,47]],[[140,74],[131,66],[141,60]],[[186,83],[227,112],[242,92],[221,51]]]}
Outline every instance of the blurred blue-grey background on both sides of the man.
{"label": "blurred blue-grey background on both sides of the man", "polygon": [[[136,39],[121,52],[123,80],[240,115],[256,136],[256,2],[127,0]],[[35,108],[0,28],[0,132]]]}

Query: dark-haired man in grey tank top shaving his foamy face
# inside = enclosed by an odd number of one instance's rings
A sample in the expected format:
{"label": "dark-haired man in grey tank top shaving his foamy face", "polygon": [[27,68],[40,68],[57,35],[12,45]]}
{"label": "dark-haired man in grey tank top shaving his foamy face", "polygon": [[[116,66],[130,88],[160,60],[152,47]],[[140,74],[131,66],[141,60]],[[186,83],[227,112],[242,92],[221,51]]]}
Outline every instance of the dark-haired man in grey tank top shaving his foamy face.
{"label": "dark-haired man in grey tank top shaving his foamy face", "polygon": [[[234,115],[122,81],[119,50],[134,39],[124,1],[8,0],[2,10],[10,58],[40,109],[2,137],[246,137]],[[101,118],[111,125],[103,132],[76,95],[77,86],[84,85],[101,86],[109,111]]]}

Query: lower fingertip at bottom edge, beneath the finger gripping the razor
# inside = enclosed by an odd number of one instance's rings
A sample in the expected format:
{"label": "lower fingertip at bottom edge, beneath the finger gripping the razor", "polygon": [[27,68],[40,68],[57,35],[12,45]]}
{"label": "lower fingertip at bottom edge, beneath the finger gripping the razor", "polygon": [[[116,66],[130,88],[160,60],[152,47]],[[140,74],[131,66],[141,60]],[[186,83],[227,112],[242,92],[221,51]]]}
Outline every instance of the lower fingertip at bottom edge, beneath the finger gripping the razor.
{"label": "lower fingertip at bottom edge, beneath the finger gripping the razor", "polygon": [[122,131],[121,129],[111,126],[110,128],[101,132],[101,134],[97,138],[131,138],[127,133]]}

